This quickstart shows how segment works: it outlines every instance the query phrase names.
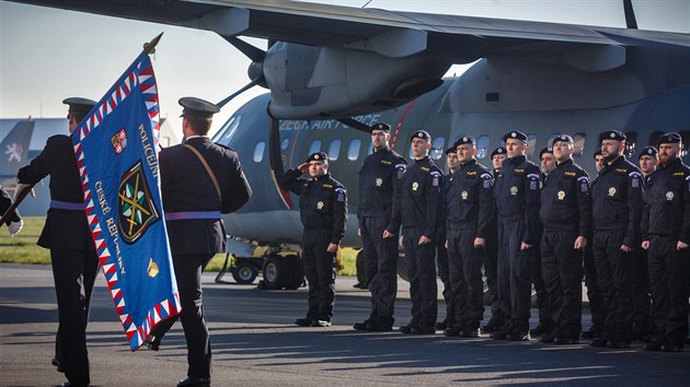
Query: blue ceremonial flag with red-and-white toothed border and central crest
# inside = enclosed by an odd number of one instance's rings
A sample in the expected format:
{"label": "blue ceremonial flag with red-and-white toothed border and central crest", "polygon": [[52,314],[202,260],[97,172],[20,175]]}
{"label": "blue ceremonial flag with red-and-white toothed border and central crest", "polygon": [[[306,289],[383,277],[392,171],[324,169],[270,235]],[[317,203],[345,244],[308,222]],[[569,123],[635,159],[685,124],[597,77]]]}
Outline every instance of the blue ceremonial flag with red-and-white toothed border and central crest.
{"label": "blue ceremonial flag with red-and-white toothed border and central crest", "polygon": [[71,134],[93,242],[133,351],[181,310],[161,201],[159,131],[156,77],[141,52]]}

